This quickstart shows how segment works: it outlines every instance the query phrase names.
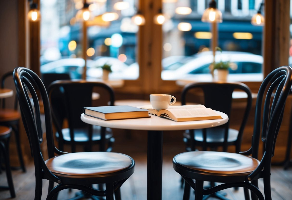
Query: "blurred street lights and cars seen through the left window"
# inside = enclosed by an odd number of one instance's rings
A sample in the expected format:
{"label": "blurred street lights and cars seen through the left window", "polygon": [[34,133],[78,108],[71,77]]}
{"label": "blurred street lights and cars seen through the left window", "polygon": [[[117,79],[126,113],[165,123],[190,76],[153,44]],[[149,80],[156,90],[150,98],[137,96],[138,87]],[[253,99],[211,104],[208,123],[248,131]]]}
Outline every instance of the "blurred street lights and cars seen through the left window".
{"label": "blurred street lights and cars seen through the left window", "polygon": [[[136,0],[87,0],[87,77],[101,78],[104,64],[111,65],[109,79],[137,79]],[[81,78],[83,59],[83,0],[41,0],[41,73],[67,73]],[[114,15],[103,15],[104,13]],[[113,20],[113,17],[118,17]],[[86,19],[87,19],[86,18]],[[113,20],[113,21],[111,21]]]}

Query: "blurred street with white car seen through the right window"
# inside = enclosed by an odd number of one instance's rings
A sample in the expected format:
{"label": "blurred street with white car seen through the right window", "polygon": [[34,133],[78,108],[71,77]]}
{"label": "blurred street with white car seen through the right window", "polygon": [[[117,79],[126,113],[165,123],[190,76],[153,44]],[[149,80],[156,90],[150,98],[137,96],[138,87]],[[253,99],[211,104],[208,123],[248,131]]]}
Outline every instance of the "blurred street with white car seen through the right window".
{"label": "blurred street with white car seen through the right window", "polygon": [[[162,26],[162,72],[163,80],[197,79],[197,75],[211,80],[209,65],[213,62],[211,24],[201,22],[201,16],[210,0],[179,0],[178,3],[163,3],[163,12],[168,16]],[[251,17],[257,13],[261,0],[238,1],[216,0],[222,12],[223,22],[217,24],[218,46],[215,62],[230,61],[238,64],[230,70],[232,80],[258,81],[263,77],[262,39],[263,27],[253,26]],[[175,12],[179,5],[190,7],[187,15]],[[165,60],[172,60],[166,66]],[[244,76],[240,76],[245,74]],[[253,74],[253,76],[247,76]],[[232,76],[236,75],[236,78]]]}

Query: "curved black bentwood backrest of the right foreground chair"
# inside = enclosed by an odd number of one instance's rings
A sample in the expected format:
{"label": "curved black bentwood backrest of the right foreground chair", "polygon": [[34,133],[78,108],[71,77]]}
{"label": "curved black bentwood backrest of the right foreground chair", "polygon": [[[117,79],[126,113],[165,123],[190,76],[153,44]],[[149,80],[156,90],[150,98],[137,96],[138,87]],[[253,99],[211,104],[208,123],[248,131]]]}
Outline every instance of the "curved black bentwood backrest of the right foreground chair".
{"label": "curved black bentwood backrest of the right foreground chair", "polygon": [[254,178],[263,169],[266,176],[270,176],[271,159],[291,85],[292,68],[282,66],[272,71],[260,86],[256,101],[252,147],[241,153],[258,158],[260,138],[264,145],[264,153],[260,165],[247,180]]}

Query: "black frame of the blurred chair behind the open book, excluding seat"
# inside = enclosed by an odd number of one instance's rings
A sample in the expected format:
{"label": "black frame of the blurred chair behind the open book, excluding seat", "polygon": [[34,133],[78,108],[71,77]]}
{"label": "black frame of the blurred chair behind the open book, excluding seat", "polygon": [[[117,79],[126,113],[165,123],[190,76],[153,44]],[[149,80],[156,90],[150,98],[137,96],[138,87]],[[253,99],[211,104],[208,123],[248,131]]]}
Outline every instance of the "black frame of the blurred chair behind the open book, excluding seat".
{"label": "black frame of the blurred chair behind the open book, excluding seat", "polygon": [[[200,82],[200,83],[190,83],[186,85],[181,94],[181,103],[182,105],[186,105],[186,97],[190,90],[200,88],[204,93],[204,105],[207,108],[211,108],[212,110],[218,110],[230,117],[231,108],[232,108],[232,93],[234,90],[240,90],[247,94],[246,99],[246,108],[244,111],[244,115],[241,121],[241,125],[238,131],[237,139],[235,141],[228,142],[228,132],[229,132],[229,121],[226,124],[223,124],[219,127],[202,129],[203,133],[203,141],[197,141],[194,139],[195,131],[198,130],[188,130],[190,134],[190,138],[184,138],[185,143],[190,145],[190,148],[186,148],[189,151],[194,151],[196,146],[202,146],[203,150],[206,150],[207,147],[217,148],[218,146],[223,147],[223,151],[227,152],[227,147],[229,145],[235,145],[236,152],[238,153],[241,148],[241,139],[244,131],[244,127],[248,120],[248,115],[251,110],[252,105],[252,96],[251,90],[243,83],[224,83],[224,82]],[[224,95],[224,97],[221,97]],[[224,129],[224,141],[223,142],[207,142],[207,131],[220,131],[220,129]]]}

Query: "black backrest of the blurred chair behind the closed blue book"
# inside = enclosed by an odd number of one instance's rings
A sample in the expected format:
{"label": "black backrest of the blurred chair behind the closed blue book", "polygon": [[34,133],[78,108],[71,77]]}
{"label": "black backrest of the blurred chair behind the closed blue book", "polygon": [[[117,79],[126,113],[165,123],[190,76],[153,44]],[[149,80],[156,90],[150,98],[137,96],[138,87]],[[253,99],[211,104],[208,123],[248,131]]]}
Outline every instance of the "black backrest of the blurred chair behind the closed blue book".
{"label": "black backrest of the blurred chair behind the closed blue book", "polygon": [[[59,92],[61,94],[62,99],[54,101],[53,96],[54,92]],[[99,106],[113,106],[114,105],[114,91],[112,87],[102,82],[91,82],[84,80],[57,80],[54,81],[48,87],[48,94],[51,98],[51,106],[52,108],[58,106],[60,101],[63,100],[63,105],[65,106],[65,115],[64,113],[59,113],[60,109],[53,109],[54,114],[65,116],[68,119],[68,125],[70,129],[86,127],[88,124],[82,122],[80,120],[80,115],[83,113],[83,107],[91,107],[92,106],[92,94],[93,91],[98,91],[100,94],[99,101],[102,99],[106,102],[104,105]],[[109,102],[109,104],[107,104]],[[97,106],[97,105],[95,105]],[[58,122],[59,125],[60,122]]]}

